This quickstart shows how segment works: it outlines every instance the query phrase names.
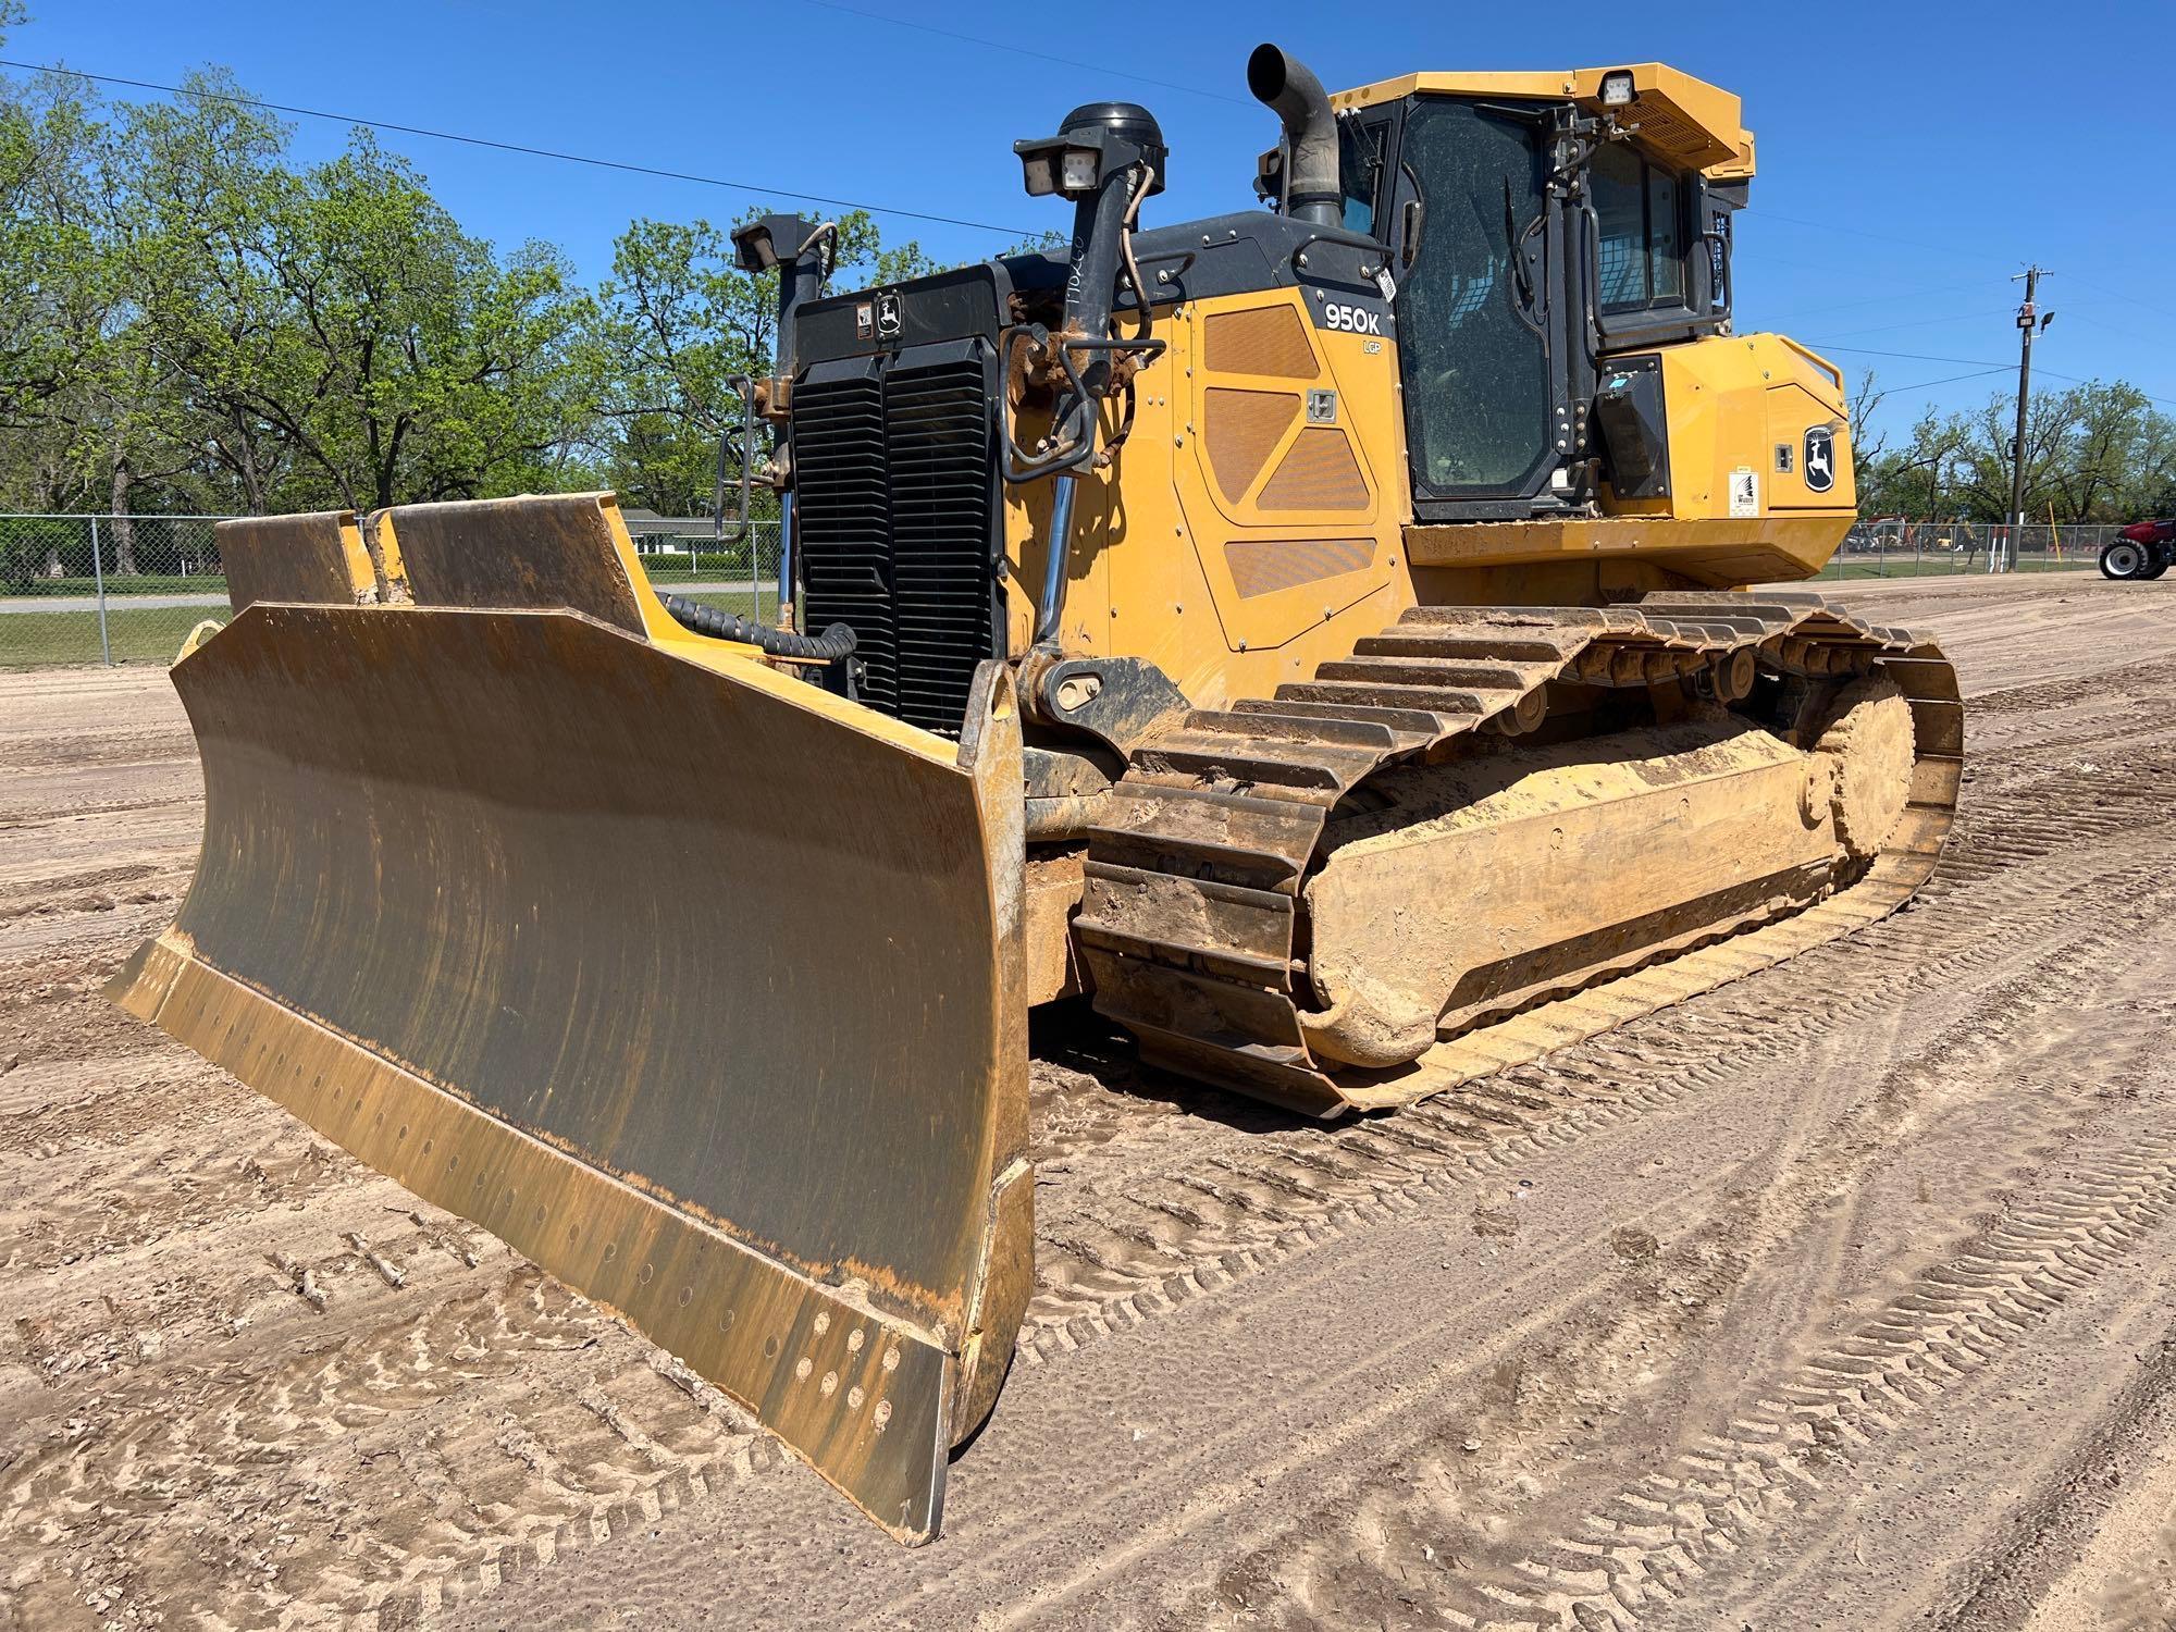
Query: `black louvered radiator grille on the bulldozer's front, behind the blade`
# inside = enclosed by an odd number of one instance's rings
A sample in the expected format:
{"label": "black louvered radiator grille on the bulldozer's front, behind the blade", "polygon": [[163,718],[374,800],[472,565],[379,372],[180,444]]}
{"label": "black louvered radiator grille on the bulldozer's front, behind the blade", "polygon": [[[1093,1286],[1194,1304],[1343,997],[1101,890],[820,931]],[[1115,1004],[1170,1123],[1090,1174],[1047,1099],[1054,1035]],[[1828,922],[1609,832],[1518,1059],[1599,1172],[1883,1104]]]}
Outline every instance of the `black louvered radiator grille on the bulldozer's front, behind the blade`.
{"label": "black louvered radiator grille on the bulldozer's front, behind the blade", "polygon": [[794,468],[807,629],[849,622],[860,696],[953,733],[994,655],[990,376],[979,355],[803,381]]}

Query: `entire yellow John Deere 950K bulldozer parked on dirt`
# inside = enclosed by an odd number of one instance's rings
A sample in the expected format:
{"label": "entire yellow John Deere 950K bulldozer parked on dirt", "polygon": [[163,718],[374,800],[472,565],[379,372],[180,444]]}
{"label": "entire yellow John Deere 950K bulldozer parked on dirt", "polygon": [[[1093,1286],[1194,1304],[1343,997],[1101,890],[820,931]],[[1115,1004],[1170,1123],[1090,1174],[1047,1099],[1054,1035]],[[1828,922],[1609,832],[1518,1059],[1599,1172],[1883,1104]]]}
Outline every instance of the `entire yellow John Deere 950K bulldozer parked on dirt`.
{"label": "entire yellow John Deere 950K bulldozer parked on dirt", "polygon": [[1841,372],[1734,313],[1739,98],[1247,63],[1016,144],[1071,242],[775,272],[779,616],[611,494],[235,520],[176,923],[111,994],[740,1401],[907,1543],[1034,1284],[1027,1014],[1393,1114],[1906,901],[1952,666],[1815,594]]}

